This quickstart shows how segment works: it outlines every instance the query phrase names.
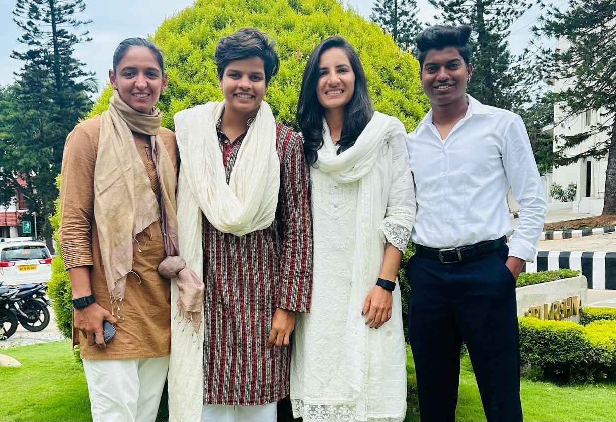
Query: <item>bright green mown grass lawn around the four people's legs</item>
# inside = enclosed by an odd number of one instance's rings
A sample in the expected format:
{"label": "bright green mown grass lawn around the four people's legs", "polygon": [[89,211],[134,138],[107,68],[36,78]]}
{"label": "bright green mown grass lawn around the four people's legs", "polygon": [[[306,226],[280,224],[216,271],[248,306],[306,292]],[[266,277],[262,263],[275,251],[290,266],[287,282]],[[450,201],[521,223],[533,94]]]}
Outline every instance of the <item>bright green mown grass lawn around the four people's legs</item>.
{"label": "bright green mown grass lawn around the four people's legs", "polygon": [[[0,421],[90,421],[86,381],[68,342],[0,350],[22,362],[0,368]],[[419,421],[413,359],[408,355],[407,421]],[[522,379],[528,421],[616,421],[616,383],[557,386]],[[458,421],[485,421],[468,357],[460,375]]]}

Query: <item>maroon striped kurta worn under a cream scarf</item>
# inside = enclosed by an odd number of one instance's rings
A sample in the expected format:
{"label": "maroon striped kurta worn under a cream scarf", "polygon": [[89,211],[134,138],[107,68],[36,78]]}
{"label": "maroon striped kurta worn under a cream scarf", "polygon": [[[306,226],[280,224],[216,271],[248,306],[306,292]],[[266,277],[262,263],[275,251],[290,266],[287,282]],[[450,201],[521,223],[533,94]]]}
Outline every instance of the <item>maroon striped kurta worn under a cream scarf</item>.
{"label": "maroon striped kurta worn under a cream scarf", "polygon": [[[245,135],[230,142],[218,134],[229,183]],[[280,193],[270,227],[236,237],[203,217],[203,404],[262,405],[289,394],[290,346],[266,344],[278,307],[309,310],[312,218],[301,138],[282,123],[277,151]]]}

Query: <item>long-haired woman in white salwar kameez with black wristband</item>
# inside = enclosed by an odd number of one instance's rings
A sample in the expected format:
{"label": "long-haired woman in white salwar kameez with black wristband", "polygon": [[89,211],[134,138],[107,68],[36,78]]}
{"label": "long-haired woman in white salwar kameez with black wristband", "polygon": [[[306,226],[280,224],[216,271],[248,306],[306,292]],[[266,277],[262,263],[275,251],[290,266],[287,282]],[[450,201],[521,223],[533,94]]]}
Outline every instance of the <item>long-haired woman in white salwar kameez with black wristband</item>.
{"label": "long-haired woman in white salwar kameez with black wristband", "polygon": [[312,182],[314,279],[298,317],[291,403],[304,422],[402,421],[406,352],[397,269],[415,220],[406,130],[375,112],[353,47],[310,54],[298,123]]}

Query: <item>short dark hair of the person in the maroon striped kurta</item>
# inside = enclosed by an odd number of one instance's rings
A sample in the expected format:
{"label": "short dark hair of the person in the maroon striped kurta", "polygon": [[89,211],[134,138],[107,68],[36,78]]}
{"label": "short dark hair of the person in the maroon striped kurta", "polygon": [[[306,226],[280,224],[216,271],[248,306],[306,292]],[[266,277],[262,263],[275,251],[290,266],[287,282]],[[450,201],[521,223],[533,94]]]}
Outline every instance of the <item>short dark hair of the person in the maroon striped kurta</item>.
{"label": "short dark hair of the person in the maroon striped kurta", "polygon": [[214,52],[214,62],[218,67],[218,79],[222,79],[225,68],[235,60],[259,57],[263,60],[265,84],[278,73],[280,60],[274,49],[276,41],[256,28],[241,28],[221,38]]}

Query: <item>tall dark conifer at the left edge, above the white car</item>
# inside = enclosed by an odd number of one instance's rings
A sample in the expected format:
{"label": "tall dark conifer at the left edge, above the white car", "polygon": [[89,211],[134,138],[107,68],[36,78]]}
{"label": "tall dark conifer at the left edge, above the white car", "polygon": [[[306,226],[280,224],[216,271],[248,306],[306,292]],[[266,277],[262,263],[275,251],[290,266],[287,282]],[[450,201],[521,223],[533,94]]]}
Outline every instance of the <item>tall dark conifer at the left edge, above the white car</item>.
{"label": "tall dark conifer at the left edge, above the white car", "polygon": [[[0,133],[8,141],[2,145],[0,184],[14,186],[28,199],[31,211],[42,217],[39,227],[51,247],[48,216],[58,193],[55,175],[64,142],[91,107],[87,93],[96,90],[92,73],[73,57],[76,44],[90,41],[87,31],[74,32],[91,22],[76,18],[85,7],[83,0],[17,0],[13,10],[23,30],[17,41],[27,49],[12,52],[23,65],[15,85],[2,93],[13,105],[0,111]],[[6,203],[6,196],[0,201]]]}

